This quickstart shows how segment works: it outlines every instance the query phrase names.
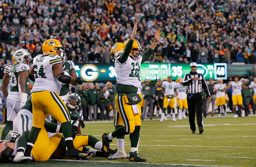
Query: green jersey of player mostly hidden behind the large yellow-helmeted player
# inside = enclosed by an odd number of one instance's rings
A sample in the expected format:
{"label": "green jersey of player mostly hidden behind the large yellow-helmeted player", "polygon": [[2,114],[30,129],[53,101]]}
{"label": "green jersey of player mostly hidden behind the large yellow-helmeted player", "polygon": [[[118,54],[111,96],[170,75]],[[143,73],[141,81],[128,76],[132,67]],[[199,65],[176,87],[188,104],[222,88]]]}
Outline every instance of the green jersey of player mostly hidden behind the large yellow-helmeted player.
{"label": "green jersey of player mostly hidden behind the large yellow-helmeted player", "polygon": [[[75,69],[75,64],[73,61],[65,61],[63,65],[64,72],[69,73],[71,75],[72,71]],[[59,96],[64,96],[69,93],[69,84],[61,83]]]}

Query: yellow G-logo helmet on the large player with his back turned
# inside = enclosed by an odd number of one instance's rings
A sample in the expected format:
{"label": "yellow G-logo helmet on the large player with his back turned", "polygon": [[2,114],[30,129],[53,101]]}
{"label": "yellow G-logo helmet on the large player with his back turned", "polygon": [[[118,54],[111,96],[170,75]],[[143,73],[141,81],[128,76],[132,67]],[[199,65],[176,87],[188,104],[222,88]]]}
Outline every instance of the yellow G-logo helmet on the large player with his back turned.
{"label": "yellow G-logo helmet on the large player with his back turned", "polygon": [[[57,39],[48,39],[42,45],[43,53],[47,55],[59,55],[63,59],[65,58],[66,54],[63,50],[63,46]],[[65,59],[64,59],[65,62]]]}

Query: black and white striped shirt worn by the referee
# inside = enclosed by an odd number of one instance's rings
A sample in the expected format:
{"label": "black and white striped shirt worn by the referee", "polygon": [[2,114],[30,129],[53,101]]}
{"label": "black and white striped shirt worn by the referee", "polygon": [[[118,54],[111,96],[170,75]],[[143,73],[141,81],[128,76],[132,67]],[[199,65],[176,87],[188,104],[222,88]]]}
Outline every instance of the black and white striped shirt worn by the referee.
{"label": "black and white striped shirt worn by the referee", "polygon": [[[196,81],[192,79],[198,77]],[[206,80],[204,79],[202,74],[199,73],[187,73],[182,81],[183,86],[187,86],[187,93],[188,94],[197,94],[202,93],[204,90],[206,92],[206,96],[210,96],[208,86],[206,84]]]}

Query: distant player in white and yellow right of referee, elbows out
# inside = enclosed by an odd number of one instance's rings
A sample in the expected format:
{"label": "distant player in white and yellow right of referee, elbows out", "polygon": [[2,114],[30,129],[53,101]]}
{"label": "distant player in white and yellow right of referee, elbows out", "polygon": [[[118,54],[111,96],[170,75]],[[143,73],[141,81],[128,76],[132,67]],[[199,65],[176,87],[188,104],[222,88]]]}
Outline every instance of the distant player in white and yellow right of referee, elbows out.
{"label": "distant player in white and yellow right of referee, elbows out", "polygon": [[[239,81],[239,77],[235,76],[234,81],[231,81],[230,85],[228,85],[225,89],[230,89],[231,87],[232,87],[233,109],[235,112],[234,118],[237,118],[238,116],[241,116],[240,112],[243,107],[243,97],[242,97],[241,90],[242,88],[248,89],[248,86],[245,86],[242,81]],[[238,105],[238,112],[236,109],[237,105]]]}

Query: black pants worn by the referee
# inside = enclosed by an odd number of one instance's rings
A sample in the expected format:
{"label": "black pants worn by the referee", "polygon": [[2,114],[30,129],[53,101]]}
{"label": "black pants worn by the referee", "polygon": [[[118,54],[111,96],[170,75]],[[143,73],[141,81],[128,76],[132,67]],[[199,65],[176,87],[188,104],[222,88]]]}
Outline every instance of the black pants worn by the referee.
{"label": "black pants worn by the referee", "polygon": [[188,105],[188,115],[189,115],[189,124],[192,131],[196,130],[195,124],[195,112],[197,111],[197,125],[198,128],[203,128],[203,97],[202,94],[193,94],[193,97],[190,97],[190,94],[187,95],[187,105]]}

